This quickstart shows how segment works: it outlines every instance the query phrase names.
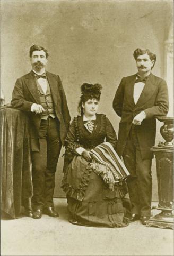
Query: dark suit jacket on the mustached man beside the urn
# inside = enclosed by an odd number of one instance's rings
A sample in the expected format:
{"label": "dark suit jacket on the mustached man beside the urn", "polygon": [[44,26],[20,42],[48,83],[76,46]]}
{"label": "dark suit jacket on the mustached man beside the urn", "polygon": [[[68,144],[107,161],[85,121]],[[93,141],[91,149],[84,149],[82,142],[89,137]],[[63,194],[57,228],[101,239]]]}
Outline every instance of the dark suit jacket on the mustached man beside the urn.
{"label": "dark suit jacket on the mustached man beside the urn", "polygon": [[113,101],[113,108],[121,117],[118,132],[117,153],[123,154],[133,118],[144,111],[146,118],[137,126],[137,136],[143,159],[153,158],[150,148],[155,143],[156,119],[155,116],[165,116],[168,113],[168,89],[166,81],[152,73],[147,79],[144,89],[134,103],[133,92],[136,74],[121,79]]}

